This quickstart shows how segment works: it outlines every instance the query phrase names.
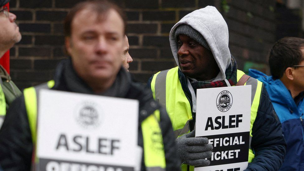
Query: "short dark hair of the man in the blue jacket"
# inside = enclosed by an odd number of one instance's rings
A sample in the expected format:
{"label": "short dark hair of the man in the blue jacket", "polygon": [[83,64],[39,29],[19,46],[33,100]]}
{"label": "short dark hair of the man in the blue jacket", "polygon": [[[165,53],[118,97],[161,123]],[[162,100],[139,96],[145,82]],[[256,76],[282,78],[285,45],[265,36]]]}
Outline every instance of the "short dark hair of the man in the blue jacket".
{"label": "short dark hair of the man in the blue jacket", "polygon": [[269,67],[273,79],[282,78],[285,70],[304,60],[302,54],[304,39],[284,37],[278,40],[269,53]]}

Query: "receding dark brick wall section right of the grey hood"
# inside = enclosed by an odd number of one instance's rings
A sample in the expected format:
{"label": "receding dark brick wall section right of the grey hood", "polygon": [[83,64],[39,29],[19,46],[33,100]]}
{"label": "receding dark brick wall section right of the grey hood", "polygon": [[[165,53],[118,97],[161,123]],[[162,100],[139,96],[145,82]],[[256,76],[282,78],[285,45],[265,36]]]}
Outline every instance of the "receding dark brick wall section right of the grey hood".
{"label": "receding dark brick wall section right of the grey hood", "polygon": [[268,73],[267,55],[276,41],[275,1],[230,0],[223,12],[230,31],[229,46],[240,69]]}

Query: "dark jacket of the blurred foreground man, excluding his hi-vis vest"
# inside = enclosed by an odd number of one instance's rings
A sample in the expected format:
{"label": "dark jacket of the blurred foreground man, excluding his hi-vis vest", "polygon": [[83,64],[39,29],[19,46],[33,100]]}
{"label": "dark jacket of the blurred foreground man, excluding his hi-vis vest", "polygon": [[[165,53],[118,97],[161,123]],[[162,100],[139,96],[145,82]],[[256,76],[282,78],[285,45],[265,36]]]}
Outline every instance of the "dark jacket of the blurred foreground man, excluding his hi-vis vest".
{"label": "dark jacket of the blurred foreground man, excluding his hi-vis vest", "polygon": [[[70,60],[59,64],[55,73],[55,86],[52,89],[95,94],[93,90],[75,73]],[[102,95],[139,100],[139,110],[146,110],[148,115],[139,115],[139,123],[150,116],[156,109],[160,110],[160,127],[164,140],[166,170],[179,170],[180,162],[175,149],[171,121],[164,108],[151,106],[154,102],[150,90],[131,80],[130,74],[121,68],[115,83]],[[143,147],[141,126],[138,127],[138,145]],[[9,108],[0,130],[0,165],[6,170],[30,170],[33,144],[26,113],[24,96],[17,98]],[[145,170],[144,155],[142,170]]]}

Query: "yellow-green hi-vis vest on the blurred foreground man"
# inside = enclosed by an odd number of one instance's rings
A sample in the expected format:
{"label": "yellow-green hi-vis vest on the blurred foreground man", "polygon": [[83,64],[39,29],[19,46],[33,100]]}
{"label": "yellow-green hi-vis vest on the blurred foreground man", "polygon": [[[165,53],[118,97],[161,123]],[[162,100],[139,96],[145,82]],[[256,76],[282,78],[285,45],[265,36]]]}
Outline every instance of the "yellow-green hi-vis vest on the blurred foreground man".
{"label": "yellow-green hi-vis vest on the blurred foreground man", "polygon": [[[37,136],[37,97],[40,89],[49,89],[54,86],[54,80],[35,87],[26,88],[23,91],[27,117],[31,129],[32,141],[36,147]],[[147,171],[166,170],[166,159],[164,143],[159,126],[160,112],[155,110],[141,123],[143,143],[144,143],[144,162]],[[35,161],[38,159],[35,157]]]}

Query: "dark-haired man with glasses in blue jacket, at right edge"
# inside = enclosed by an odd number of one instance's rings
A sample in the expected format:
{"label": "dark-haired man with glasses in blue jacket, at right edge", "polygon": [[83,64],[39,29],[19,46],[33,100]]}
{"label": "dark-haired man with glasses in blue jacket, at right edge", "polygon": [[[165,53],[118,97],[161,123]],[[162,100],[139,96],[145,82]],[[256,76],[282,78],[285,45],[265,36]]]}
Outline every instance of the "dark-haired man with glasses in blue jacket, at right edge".
{"label": "dark-haired man with glasses in blue jacket, at right edge", "polygon": [[249,75],[264,83],[287,142],[280,170],[304,169],[304,39],[278,40],[269,54],[272,76],[250,69]]}

